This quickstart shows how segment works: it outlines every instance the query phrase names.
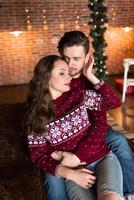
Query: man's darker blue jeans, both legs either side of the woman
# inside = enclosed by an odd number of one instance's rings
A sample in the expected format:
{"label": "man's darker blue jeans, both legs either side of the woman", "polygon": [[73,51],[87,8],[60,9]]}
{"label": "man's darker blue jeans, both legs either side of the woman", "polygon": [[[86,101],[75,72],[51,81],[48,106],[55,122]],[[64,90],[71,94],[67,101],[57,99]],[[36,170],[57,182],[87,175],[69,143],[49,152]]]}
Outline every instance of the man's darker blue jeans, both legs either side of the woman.
{"label": "man's darker blue jeans, both legs either side of the woman", "polygon": [[[108,129],[106,142],[120,161],[123,172],[124,193],[134,192],[134,159],[125,136],[112,129]],[[68,200],[63,178],[45,173],[44,185],[48,200]]]}

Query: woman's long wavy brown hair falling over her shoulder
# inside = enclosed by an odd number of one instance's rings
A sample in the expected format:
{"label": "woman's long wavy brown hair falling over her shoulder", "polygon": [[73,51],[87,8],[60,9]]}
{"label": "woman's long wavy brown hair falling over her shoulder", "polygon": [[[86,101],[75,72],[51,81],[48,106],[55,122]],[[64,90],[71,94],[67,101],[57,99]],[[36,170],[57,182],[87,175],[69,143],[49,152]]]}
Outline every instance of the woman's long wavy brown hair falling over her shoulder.
{"label": "woman's long wavy brown hair falling over her shoulder", "polygon": [[61,60],[57,55],[43,57],[36,65],[29,84],[27,111],[24,117],[24,128],[27,133],[42,134],[45,125],[54,119],[52,97],[49,92],[49,80],[54,62]]}

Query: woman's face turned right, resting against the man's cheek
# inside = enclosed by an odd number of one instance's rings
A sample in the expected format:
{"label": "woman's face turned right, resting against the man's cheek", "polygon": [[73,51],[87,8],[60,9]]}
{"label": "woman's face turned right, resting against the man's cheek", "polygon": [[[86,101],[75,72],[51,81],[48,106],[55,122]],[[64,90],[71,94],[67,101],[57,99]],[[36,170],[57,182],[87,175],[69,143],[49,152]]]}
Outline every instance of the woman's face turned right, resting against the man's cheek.
{"label": "woman's face turned right, resting against the man's cheek", "polygon": [[49,90],[52,98],[59,97],[62,93],[70,90],[71,76],[69,67],[63,60],[54,62],[54,67],[49,80]]}

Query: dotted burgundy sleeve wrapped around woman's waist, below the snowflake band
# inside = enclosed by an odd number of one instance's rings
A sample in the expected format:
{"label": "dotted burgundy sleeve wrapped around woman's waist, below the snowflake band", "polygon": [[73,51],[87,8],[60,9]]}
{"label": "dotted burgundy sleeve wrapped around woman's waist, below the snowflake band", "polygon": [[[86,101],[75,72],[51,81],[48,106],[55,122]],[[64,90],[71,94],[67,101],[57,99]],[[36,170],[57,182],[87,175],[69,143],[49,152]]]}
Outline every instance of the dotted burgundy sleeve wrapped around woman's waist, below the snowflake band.
{"label": "dotted burgundy sleeve wrapped around woman's waist, below the snowflake band", "polygon": [[[89,109],[89,119],[92,122],[88,128],[87,134],[77,144],[77,149],[74,154],[81,160],[92,157],[96,152],[104,148],[106,137],[106,106],[105,102],[101,101],[99,110]],[[108,150],[108,149],[107,149]]]}

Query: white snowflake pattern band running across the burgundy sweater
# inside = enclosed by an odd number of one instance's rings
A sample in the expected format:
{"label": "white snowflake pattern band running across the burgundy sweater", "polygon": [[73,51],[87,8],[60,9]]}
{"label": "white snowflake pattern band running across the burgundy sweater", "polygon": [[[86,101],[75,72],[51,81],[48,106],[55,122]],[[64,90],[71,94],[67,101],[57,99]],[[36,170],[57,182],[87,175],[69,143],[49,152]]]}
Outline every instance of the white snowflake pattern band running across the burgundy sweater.
{"label": "white snowflake pattern band running across the burgundy sweater", "polygon": [[64,117],[49,123],[46,127],[48,132],[44,136],[28,136],[29,144],[42,144],[46,140],[52,145],[60,144],[70,139],[70,137],[80,134],[80,132],[91,125],[88,119],[87,108],[90,110],[99,110],[101,95],[93,90],[88,90],[85,93],[85,98],[79,107],[75,108]]}

